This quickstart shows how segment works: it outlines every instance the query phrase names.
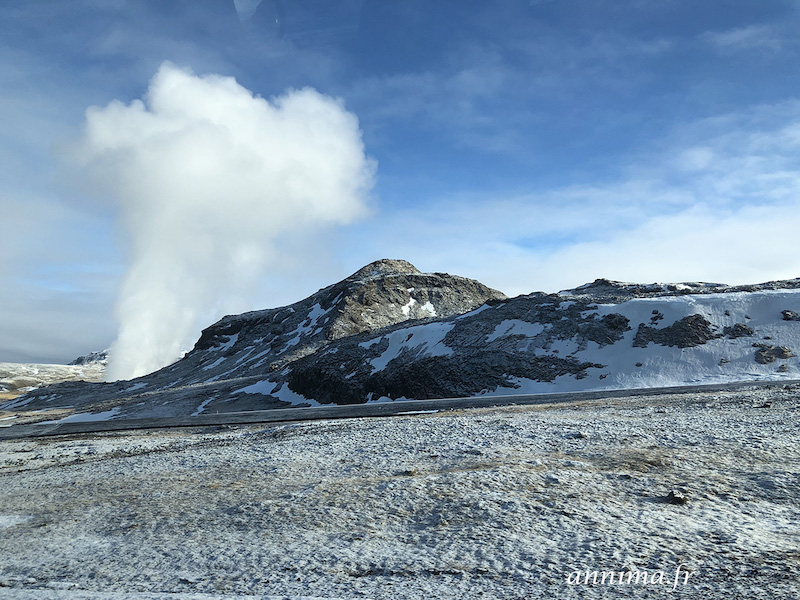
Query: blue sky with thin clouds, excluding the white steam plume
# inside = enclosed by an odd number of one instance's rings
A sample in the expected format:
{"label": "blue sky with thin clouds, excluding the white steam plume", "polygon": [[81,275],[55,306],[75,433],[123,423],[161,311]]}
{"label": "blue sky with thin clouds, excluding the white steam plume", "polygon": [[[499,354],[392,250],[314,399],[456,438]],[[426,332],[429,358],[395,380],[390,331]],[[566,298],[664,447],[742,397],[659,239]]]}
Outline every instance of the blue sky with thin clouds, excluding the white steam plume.
{"label": "blue sky with thin clouds, excluding the white steam plume", "polygon": [[114,339],[130,250],[65,148],[165,61],[340,98],[377,165],[237,309],[382,257],[508,294],[800,276],[798,32],[795,0],[4,2],[0,361]]}

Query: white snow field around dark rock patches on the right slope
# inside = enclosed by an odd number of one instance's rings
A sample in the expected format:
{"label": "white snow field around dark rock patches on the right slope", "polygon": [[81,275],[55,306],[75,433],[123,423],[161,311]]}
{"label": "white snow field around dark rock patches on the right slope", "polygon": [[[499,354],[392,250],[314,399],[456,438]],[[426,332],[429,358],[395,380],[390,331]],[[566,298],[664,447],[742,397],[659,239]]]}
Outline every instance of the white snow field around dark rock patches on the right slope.
{"label": "white snow field around dark rock patches on the right slope", "polygon": [[[798,323],[781,320],[781,307],[798,306],[800,290],[764,290],[760,292],[732,292],[709,295],[673,296],[668,298],[634,298],[620,304],[601,304],[599,315],[622,314],[630,319],[632,329],[612,345],[600,348],[588,342],[580,348],[576,340],[563,340],[553,344],[549,352],[561,356],[574,354],[584,361],[602,363],[602,369],[590,369],[588,377],[560,377],[553,382],[516,379],[517,388],[499,387],[490,394],[536,394],[553,391],[575,391],[587,389],[632,389],[642,387],[666,387],[703,383],[725,383],[751,380],[793,379],[800,374],[800,360],[759,364],[753,343],[765,340],[769,344],[797,346]],[[660,346],[650,343],[645,348],[633,345],[636,325],[646,323],[658,312],[664,316],[661,326],[672,325],[689,315],[701,315],[719,327],[744,323],[756,331],[755,336],[729,339],[720,337],[692,348]],[[525,330],[529,329],[529,332]],[[537,325],[503,322],[487,338],[521,334],[535,337]],[[539,351],[539,354],[546,352]],[[786,363],[784,370],[778,365]],[[634,365],[641,365],[638,368]]]}

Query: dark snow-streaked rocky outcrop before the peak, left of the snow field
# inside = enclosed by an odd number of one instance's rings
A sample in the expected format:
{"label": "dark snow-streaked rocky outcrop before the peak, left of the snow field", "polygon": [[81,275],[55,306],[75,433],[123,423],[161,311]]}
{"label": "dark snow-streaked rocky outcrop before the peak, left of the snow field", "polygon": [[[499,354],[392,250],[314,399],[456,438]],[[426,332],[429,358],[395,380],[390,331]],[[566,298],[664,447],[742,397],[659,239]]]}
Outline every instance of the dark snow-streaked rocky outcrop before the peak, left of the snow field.
{"label": "dark snow-streaked rocky outcrop before the peak, left of the snow field", "polygon": [[381,397],[468,396],[498,387],[513,390],[517,379],[583,378],[587,370],[603,365],[574,354],[560,356],[553,346],[569,341],[578,352],[589,342],[600,347],[618,342],[630,330],[624,316],[599,316],[590,310],[593,306],[534,294],[494,302],[491,310],[424,330],[395,326],[354,336],[337,344],[336,352],[298,360],[287,383],[317,402],[357,403]]}

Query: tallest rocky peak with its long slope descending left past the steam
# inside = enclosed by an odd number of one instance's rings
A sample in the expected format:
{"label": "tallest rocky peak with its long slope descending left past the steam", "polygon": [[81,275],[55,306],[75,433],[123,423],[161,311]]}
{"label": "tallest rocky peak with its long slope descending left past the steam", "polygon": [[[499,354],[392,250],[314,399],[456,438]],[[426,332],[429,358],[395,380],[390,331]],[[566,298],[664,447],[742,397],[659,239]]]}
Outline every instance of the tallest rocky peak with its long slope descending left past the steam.
{"label": "tallest rocky peak with its long slope descending left past the steam", "polygon": [[286,386],[255,400],[235,395],[235,386],[261,381],[349,336],[460,315],[505,298],[472,279],[380,260],[295,304],[224,317],[202,332],[183,359],[150,375],[91,386],[65,382],[0,408],[68,405],[135,417],[290,406],[302,399]]}

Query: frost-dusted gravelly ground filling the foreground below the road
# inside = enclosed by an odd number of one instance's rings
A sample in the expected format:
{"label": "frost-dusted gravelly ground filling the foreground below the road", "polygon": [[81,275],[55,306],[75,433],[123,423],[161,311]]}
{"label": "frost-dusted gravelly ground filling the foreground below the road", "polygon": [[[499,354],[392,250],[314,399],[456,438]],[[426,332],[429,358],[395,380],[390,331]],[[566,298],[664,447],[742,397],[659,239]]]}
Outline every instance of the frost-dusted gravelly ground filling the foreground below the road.
{"label": "frost-dusted gravelly ground filling the foreground below the road", "polygon": [[[776,386],[3,441],[0,598],[797,598],[798,408]],[[587,569],[665,583],[568,583]]]}

